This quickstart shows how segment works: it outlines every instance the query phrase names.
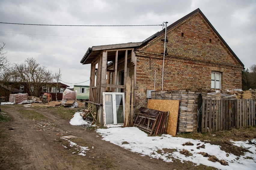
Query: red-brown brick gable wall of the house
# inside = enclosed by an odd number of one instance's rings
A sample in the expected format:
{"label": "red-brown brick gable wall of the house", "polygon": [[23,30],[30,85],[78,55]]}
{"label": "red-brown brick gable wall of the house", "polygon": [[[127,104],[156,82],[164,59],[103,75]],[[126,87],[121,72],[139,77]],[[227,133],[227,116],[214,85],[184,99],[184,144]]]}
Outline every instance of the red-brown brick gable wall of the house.
{"label": "red-brown brick gable wall of the house", "polygon": [[[160,53],[164,51],[164,42],[161,41],[163,36],[136,51],[136,85],[139,86],[139,90],[136,90],[136,106],[147,105],[146,90],[154,89],[154,70],[156,90],[162,89],[163,54]],[[212,71],[222,73],[221,89],[242,88],[243,67],[200,14],[191,16],[169,30],[167,39],[163,90],[211,88]]]}

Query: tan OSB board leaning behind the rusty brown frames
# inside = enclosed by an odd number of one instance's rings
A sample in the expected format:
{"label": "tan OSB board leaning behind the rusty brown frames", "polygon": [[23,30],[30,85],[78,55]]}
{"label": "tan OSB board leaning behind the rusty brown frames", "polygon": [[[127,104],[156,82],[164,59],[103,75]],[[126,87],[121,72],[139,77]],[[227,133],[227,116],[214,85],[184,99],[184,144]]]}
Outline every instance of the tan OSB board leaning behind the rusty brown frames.
{"label": "tan OSB board leaning behind the rusty brown frames", "polygon": [[148,108],[170,112],[166,132],[169,135],[175,136],[178,122],[179,100],[149,99]]}

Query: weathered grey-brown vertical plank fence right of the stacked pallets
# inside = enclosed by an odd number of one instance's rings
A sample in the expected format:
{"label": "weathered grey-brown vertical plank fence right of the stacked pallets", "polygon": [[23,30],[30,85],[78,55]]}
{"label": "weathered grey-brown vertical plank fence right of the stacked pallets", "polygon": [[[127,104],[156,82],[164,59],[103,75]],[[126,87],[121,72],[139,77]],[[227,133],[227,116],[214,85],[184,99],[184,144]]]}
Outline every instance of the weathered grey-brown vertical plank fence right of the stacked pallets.
{"label": "weathered grey-brown vertical plank fence right of the stacked pallets", "polygon": [[255,126],[255,104],[255,99],[203,99],[201,132]]}

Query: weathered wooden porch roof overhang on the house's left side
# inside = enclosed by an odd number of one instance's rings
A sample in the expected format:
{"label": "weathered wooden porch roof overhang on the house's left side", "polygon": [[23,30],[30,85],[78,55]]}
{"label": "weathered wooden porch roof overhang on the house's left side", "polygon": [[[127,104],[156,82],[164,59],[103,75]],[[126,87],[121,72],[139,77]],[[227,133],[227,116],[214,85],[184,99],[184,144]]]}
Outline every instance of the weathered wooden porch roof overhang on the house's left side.
{"label": "weathered wooden porch roof overhang on the house's left side", "polygon": [[92,48],[88,48],[84,57],[80,61],[82,64],[90,64],[95,57],[97,57],[102,50],[113,50],[113,49],[122,49],[122,48],[135,48],[142,44],[142,42],[129,42],[123,44],[111,44],[111,45],[99,45],[92,46]]}

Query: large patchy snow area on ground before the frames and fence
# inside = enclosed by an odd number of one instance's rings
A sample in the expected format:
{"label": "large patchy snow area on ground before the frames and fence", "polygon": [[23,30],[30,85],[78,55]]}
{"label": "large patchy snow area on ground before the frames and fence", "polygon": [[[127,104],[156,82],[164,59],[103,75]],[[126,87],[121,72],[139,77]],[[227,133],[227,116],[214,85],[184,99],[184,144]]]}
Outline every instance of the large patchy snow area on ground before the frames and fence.
{"label": "large patchy snow area on ground before the frames and fence", "polygon": [[[171,135],[163,134],[162,136],[148,136],[145,132],[135,127],[129,128],[108,128],[108,129],[97,129],[98,133],[102,135],[103,140],[114,143],[115,145],[121,146],[132,152],[136,152],[141,156],[148,155],[152,158],[160,158],[166,162],[173,162],[172,158],[179,159],[181,162],[190,161],[197,165],[203,164],[206,166],[213,166],[218,169],[255,169],[256,166],[256,151],[255,145],[247,142],[234,142],[235,145],[249,148],[253,154],[246,152],[244,156],[237,157],[225,151],[221,151],[221,146],[211,145],[209,143],[201,142],[200,140],[186,139],[181,137],[172,137]],[[255,139],[254,139],[255,141]],[[182,145],[186,142],[191,142],[193,146]],[[199,144],[199,145],[197,145]],[[205,145],[205,148],[199,148],[198,146]],[[173,152],[164,152],[166,149],[175,149]],[[185,156],[179,152],[182,149],[188,150],[193,156]],[[209,155],[216,156],[219,160],[225,160],[228,166],[221,165],[219,162],[211,162],[208,157],[203,157],[198,152],[206,152]],[[252,157],[252,159],[245,159],[245,157]],[[239,159],[237,159],[239,158]]]}

